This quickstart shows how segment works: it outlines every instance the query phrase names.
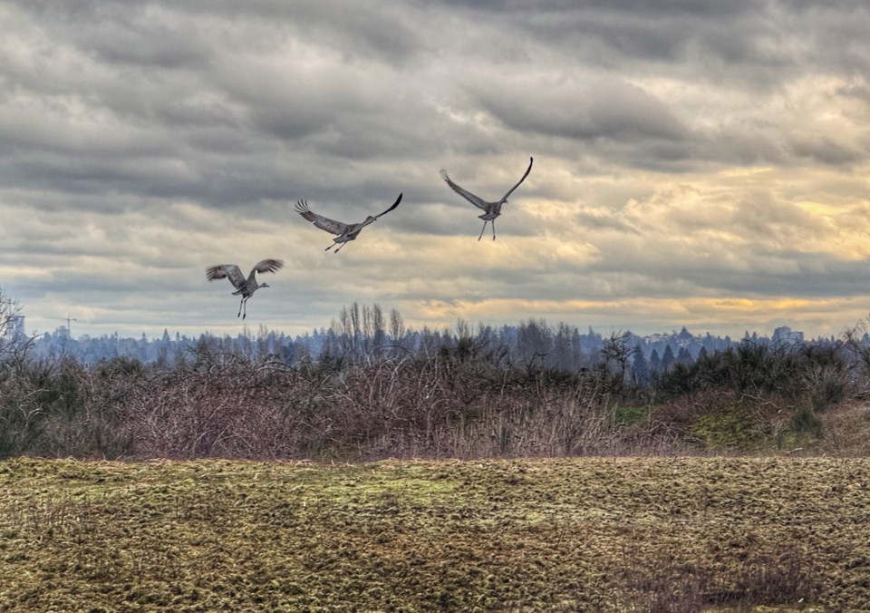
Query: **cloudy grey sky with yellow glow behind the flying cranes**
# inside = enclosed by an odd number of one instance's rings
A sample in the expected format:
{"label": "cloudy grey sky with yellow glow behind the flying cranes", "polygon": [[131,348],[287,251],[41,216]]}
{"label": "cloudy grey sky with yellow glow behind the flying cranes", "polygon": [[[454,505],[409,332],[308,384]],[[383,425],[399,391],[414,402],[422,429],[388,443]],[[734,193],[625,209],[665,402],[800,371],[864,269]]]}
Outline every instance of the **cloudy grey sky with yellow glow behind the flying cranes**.
{"label": "cloudy grey sky with yellow glow behind the flying cranes", "polygon": [[[534,7],[534,8],[532,8]],[[29,330],[839,334],[870,312],[870,6],[0,0],[0,287]],[[439,170],[498,199],[480,210]],[[355,222],[338,255],[297,199]]]}

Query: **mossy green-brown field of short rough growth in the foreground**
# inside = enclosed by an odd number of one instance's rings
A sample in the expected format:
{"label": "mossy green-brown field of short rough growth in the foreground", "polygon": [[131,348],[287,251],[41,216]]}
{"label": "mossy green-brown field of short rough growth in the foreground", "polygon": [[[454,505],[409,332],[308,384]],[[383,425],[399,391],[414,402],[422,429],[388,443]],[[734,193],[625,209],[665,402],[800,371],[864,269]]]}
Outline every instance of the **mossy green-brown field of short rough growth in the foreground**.
{"label": "mossy green-brown field of short rough growth in the foreground", "polygon": [[0,610],[870,610],[870,460],[0,464]]}

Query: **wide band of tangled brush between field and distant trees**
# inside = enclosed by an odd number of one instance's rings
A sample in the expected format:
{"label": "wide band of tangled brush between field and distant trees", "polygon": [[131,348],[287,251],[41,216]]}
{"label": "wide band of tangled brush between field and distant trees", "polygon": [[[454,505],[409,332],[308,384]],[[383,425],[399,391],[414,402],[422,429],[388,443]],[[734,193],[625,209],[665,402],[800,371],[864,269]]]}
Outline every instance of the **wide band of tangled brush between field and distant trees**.
{"label": "wide band of tangled brush between field and distant trees", "polygon": [[867,352],[744,344],[633,382],[614,337],[578,372],[474,338],[422,355],[252,362],[202,343],[172,365],[0,361],[0,456],[374,459],[789,448],[861,394]]}

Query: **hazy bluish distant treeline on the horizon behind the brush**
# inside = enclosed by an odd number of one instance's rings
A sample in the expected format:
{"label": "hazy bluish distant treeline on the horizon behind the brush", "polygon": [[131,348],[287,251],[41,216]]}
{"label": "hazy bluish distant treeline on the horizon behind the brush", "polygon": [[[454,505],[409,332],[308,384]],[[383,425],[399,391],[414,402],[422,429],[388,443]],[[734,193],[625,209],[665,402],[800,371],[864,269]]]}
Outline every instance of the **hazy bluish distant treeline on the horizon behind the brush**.
{"label": "hazy bluish distant treeline on the horizon behind the brush", "polygon": [[[627,345],[635,349],[632,364],[638,365],[643,372],[667,368],[673,362],[691,362],[704,352],[719,351],[733,345],[728,336],[711,336],[709,333],[693,336],[685,328],[680,332],[674,330],[669,335],[641,337],[629,332],[621,336]],[[191,337],[178,332],[170,336],[169,330],[164,330],[156,338],[144,334],[139,338],[124,338],[117,334],[73,338],[69,330],[61,326],[52,334],[35,338],[33,354],[40,357],[72,356],[85,364],[128,356],[144,363],[166,365],[187,354],[190,348],[208,343],[218,345],[221,351],[244,355],[250,360],[269,357],[287,365],[324,357],[361,363],[409,352],[415,355],[428,354],[440,346],[455,345],[459,339],[468,337],[498,346],[508,361],[534,361],[548,368],[563,370],[576,370],[589,365],[607,340],[607,336],[602,336],[592,328],[581,332],[576,326],[565,323],[550,326],[546,321],[535,319],[517,326],[479,324],[476,328],[459,320],[451,328],[424,327],[415,330],[405,326],[401,314],[395,309],[386,314],[377,304],[360,306],[354,303],[344,307],[328,328],[295,337],[259,326],[256,332],[246,328],[237,336],[212,336],[206,333]],[[757,343],[770,340],[749,335],[747,338]]]}

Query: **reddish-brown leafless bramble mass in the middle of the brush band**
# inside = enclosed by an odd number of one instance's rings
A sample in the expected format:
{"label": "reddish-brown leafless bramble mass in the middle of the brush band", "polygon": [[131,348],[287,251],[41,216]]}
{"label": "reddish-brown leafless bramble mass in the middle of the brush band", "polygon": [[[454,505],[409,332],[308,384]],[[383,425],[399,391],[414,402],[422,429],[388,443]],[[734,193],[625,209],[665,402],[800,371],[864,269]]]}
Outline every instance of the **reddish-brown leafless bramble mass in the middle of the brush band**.
{"label": "reddish-brown leafless bramble mass in the middle of the brush band", "polygon": [[121,399],[138,455],[377,458],[565,455],[615,443],[595,375],[496,368],[459,345],[429,358],[254,365],[202,351]]}

